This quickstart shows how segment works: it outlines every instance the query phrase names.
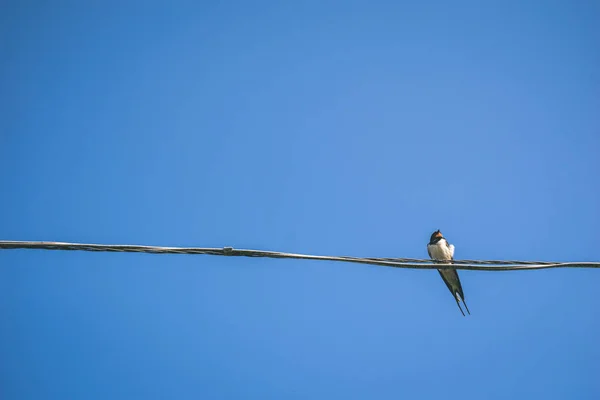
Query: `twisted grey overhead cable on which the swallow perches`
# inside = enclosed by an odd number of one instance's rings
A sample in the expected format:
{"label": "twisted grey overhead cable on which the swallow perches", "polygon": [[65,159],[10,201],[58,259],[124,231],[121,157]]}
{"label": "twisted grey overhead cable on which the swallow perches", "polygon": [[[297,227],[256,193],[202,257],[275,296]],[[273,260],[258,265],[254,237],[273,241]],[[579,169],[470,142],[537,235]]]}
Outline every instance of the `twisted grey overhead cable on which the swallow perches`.
{"label": "twisted grey overhead cable on which the swallow perches", "polygon": [[152,254],[205,254],[229,257],[293,258],[301,260],[339,261],[411,269],[462,269],[471,271],[517,271],[548,268],[600,268],[600,262],[549,262],[549,261],[501,261],[501,260],[454,260],[452,264],[434,264],[431,260],[416,258],[363,258],[348,256],[316,256],[309,254],[282,253],[279,251],[244,250],[233,247],[162,247],[121,244],[86,244],[63,242],[31,242],[0,240],[0,250],[39,249],[99,251]]}

